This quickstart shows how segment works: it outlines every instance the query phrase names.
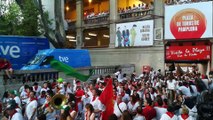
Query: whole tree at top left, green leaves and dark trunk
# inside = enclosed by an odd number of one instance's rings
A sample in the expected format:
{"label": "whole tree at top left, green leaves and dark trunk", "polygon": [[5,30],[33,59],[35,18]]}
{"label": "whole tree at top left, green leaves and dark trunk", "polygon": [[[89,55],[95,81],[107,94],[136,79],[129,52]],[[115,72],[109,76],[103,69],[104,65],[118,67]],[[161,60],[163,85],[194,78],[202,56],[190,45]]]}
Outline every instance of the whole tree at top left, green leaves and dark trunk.
{"label": "whole tree at top left, green leaves and dark trunk", "polygon": [[7,13],[0,16],[0,35],[44,35],[56,48],[64,48],[66,34],[62,16],[62,0],[52,0],[55,5],[55,29],[50,27],[48,13],[44,11],[42,0],[15,0]]}

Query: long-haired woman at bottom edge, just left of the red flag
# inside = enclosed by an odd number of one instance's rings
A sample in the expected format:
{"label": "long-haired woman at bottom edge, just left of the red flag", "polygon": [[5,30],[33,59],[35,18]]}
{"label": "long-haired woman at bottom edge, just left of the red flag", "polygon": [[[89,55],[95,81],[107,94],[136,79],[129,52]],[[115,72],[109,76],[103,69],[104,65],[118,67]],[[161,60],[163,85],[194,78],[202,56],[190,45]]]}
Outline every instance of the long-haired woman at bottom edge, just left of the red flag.
{"label": "long-haired woman at bottom edge, just left of the red flag", "polygon": [[85,106],[85,120],[95,120],[95,113],[92,104],[87,103]]}

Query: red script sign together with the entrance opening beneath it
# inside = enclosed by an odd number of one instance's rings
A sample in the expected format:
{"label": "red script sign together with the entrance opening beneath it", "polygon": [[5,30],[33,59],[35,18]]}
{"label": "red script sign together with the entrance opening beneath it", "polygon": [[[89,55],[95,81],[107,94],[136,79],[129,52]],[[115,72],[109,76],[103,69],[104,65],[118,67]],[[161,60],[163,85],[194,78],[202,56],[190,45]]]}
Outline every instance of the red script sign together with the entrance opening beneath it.
{"label": "red script sign together with the entrance opening beneath it", "polygon": [[184,71],[192,71],[196,66],[203,74],[211,68],[211,42],[174,41],[165,45],[165,63],[180,65]]}

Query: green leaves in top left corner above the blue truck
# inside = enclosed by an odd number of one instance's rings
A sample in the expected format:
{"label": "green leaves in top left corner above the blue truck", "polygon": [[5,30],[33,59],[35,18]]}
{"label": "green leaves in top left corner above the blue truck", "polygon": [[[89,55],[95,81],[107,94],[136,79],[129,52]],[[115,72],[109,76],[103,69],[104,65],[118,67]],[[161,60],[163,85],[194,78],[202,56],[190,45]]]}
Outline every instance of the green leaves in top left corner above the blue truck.
{"label": "green leaves in top left corner above the blue truck", "polygon": [[21,9],[15,2],[4,6],[5,13],[0,17],[1,35],[38,36],[38,9],[31,0],[26,0]]}

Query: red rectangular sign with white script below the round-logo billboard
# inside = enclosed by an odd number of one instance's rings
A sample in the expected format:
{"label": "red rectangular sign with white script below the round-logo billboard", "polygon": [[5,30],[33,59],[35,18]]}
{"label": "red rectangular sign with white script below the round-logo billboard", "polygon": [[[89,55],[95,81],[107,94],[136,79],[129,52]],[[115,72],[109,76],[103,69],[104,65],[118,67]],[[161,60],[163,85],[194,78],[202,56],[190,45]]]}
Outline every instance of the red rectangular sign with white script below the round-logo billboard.
{"label": "red rectangular sign with white script below the round-logo billboard", "polygon": [[210,60],[210,46],[166,46],[166,60]]}

